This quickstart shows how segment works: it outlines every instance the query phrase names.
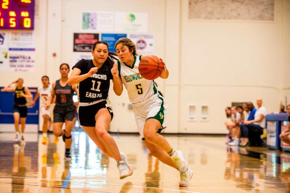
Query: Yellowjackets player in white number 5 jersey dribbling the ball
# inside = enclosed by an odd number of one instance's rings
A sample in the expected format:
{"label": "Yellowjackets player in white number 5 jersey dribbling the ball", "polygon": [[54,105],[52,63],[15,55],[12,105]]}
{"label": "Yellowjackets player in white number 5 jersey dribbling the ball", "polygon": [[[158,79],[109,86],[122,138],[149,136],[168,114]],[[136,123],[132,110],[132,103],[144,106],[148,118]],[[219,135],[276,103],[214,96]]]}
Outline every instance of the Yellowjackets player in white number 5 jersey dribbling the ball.
{"label": "Yellowjackets player in white number 5 jersey dribbling the ball", "polygon": [[[193,172],[188,168],[182,151],[174,150],[159,134],[165,128],[167,105],[159,95],[154,80],[147,80],[139,73],[138,66],[143,56],[136,54],[136,45],[129,38],[120,38],[115,49],[120,60],[111,70],[114,92],[120,96],[124,84],[142,140],[154,157],[179,170],[179,186],[188,186]],[[164,62],[163,65],[164,71],[159,77],[167,78],[169,73]]]}

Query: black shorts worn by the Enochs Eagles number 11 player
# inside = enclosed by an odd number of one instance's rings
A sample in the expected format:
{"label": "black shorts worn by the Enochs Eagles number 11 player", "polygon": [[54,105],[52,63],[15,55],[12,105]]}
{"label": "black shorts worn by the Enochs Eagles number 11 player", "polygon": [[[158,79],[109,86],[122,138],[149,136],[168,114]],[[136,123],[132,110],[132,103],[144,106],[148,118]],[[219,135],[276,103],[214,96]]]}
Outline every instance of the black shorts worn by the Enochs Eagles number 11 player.
{"label": "black shorts worn by the Enochs Eagles number 11 player", "polygon": [[78,112],[79,124],[85,127],[95,127],[96,125],[95,115],[102,108],[108,109],[111,115],[111,120],[112,120],[114,114],[113,114],[111,102],[109,100],[104,100],[94,105],[79,106],[79,112]]}

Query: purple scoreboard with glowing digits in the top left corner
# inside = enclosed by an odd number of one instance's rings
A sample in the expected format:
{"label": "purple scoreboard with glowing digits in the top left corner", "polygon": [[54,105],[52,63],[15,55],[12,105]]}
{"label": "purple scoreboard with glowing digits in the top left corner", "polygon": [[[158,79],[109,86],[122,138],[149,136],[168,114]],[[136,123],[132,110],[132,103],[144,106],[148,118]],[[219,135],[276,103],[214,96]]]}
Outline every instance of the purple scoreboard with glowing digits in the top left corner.
{"label": "purple scoreboard with glowing digits in the top left corner", "polygon": [[35,0],[0,0],[1,29],[34,29]]}

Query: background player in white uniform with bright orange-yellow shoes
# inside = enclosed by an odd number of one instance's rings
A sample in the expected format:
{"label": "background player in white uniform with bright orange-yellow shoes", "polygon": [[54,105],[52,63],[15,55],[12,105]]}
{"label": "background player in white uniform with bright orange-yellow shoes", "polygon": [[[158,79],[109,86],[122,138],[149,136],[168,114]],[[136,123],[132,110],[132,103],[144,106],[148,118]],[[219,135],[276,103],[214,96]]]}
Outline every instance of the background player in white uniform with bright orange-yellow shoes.
{"label": "background player in white uniform with bright orange-yellow shoes", "polygon": [[35,101],[40,96],[40,114],[43,117],[43,125],[42,125],[42,144],[47,144],[47,129],[48,129],[48,122],[50,118],[50,111],[45,109],[45,106],[48,104],[49,97],[51,95],[52,87],[49,83],[48,76],[43,76],[41,78],[42,86],[37,88],[37,93],[34,97],[34,100],[32,101],[31,105],[35,105]]}

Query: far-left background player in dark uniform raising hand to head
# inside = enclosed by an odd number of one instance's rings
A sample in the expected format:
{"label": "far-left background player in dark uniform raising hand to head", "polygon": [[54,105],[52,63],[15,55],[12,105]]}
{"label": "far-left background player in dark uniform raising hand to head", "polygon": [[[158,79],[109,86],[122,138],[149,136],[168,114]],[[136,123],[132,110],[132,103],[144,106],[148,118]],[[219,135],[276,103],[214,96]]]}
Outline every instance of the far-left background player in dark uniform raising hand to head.
{"label": "far-left background player in dark uniform raising hand to head", "polygon": [[[4,87],[6,92],[14,92],[13,117],[16,137],[14,141],[19,141],[19,118],[21,123],[21,141],[24,141],[25,121],[27,116],[26,99],[32,99],[32,94],[27,87],[23,86],[23,79],[18,78],[17,81],[11,82]],[[15,84],[14,87],[10,87]]]}

